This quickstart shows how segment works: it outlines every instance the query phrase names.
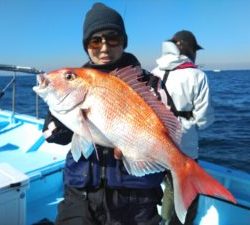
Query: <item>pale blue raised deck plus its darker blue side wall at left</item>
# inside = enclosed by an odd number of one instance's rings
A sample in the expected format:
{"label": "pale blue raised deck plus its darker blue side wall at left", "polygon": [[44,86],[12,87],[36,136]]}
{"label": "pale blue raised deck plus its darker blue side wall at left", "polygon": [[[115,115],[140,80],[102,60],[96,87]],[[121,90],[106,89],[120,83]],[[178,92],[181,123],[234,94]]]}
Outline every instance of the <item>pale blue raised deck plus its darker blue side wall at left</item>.
{"label": "pale blue raised deck plus its darker blue side wall at left", "polygon": [[28,225],[42,218],[55,218],[63,191],[64,160],[70,148],[47,143],[42,135],[43,122],[21,114],[13,117],[10,111],[0,110],[0,165],[8,163],[29,178],[25,215]]}

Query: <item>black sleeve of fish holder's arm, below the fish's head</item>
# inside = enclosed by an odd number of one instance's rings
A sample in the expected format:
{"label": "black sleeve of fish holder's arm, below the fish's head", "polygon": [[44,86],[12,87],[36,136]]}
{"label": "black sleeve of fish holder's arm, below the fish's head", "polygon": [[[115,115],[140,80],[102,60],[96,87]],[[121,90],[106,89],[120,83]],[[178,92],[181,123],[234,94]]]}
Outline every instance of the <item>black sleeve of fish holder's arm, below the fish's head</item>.
{"label": "black sleeve of fish holder's arm, below the fish's head", "polygon": [[56,128],[52,131],[52,134],[46,138],[46,141],[49,143],[56,143],[60,145],[67,145],[71,142],[73,132],[64,126],[58,119],[56,119],[51,112],[48,112],[48,115],[45,119],[43,132],[48,129],[48,126],[51,122],[55,123]]}

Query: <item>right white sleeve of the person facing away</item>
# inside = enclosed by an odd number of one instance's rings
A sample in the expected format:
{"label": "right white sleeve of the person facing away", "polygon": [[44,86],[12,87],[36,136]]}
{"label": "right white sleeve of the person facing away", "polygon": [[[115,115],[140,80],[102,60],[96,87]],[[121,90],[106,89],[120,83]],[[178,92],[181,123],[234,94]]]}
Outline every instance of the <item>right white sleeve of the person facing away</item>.
{"label": "right white sleeve of the person facing away", "polygon": [[193,122],[199,129],[205,129],[214,122],[214,108],[212,105],[208,79],[204,72],[201,71],[200,73],[200,76],[197,77],[197,85],[194,91]]}

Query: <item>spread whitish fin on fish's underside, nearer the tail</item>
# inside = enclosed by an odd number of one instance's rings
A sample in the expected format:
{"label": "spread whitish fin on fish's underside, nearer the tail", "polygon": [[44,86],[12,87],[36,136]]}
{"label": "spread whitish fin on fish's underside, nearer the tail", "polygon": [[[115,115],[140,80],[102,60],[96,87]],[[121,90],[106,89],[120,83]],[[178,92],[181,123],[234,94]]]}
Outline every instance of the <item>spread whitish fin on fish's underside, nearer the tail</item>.
{"label": "spread whitish fin on fish's underside, nearer the tail", "polygon": [[164,165],[161,165],[159,162],[150,158],[135,159],[123,155],[122,159],[128,173],[137,177],[166,170]]}

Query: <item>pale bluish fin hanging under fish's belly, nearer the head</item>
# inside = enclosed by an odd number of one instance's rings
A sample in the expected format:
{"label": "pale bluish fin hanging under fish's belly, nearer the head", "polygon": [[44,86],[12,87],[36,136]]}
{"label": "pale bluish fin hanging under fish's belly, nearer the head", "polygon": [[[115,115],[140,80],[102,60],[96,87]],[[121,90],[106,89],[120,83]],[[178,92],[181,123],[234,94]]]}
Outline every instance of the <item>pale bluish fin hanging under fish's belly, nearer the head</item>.
{"label": "pale bluish fin hanging under fish's belly, nearer the head", "polygon": [[74,133],[71,143],[71,153],[76,162],[80,159],[82,154],[87,159],[94,149],[95,147],[92,141]]}

